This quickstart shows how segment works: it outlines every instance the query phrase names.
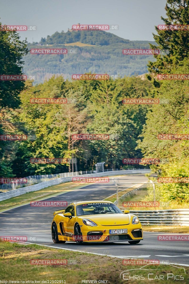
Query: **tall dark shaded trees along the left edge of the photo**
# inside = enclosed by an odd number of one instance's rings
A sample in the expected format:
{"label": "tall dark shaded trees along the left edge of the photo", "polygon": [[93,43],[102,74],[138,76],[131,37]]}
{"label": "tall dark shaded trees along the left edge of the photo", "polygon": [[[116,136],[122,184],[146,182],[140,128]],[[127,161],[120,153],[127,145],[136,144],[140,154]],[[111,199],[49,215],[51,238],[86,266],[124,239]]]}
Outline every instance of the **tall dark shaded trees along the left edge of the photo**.
{"label": "tall dark shaded trees along the left edge of the photo", "polygon": [[[0,22],[1,26],[1,22]],[[15,31],[0,32],[0,70],[1,75],[21,75],[22,57],[27,54],[26,41],[20,41]],[[0,134],[15,131],[11,122],[11,110],[20,104],[19,93],[24,89],[23,81],[0,80]],[[11,174],[13,144],[1,141],[0,146],[0,175]]]}

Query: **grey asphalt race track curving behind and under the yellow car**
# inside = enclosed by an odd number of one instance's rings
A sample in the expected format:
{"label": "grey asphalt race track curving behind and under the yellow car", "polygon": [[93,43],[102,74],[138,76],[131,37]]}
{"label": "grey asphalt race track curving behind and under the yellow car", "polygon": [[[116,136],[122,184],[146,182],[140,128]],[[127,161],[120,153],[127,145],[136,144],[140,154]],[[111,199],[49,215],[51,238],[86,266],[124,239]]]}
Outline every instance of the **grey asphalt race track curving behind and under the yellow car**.
{"label": "grey asphalt race track curving behind and under the yellow car", "polygon": [[[120,182],[144,182],[147,178],[144,175],[120,176]],[[131,185],[128,185],[128,187]],[[116,187],[113,182],[108,184],[96,183],[82,189],[46,199],[46,201],[90,201],[105,200],[106,197],[115,193]],[[158,235],[168,233],[144,232],[143,238],[137,245],[122,243],[101,243],[77,245],[73,242],[65,244],[54,244],[51,238],[51,222],[53,212],[62,209],[58,207],[33,207],[30,204],[20,206],[0,213],[0,236],[27,236],[27,242],[52,247],[82,250],[119,256],[122,258],[144,258],[148,260],[160,260],[175,264],[189,265],[189,250],[187,241],[158,241]],[[171,235],[171,234],[170,234]]]}

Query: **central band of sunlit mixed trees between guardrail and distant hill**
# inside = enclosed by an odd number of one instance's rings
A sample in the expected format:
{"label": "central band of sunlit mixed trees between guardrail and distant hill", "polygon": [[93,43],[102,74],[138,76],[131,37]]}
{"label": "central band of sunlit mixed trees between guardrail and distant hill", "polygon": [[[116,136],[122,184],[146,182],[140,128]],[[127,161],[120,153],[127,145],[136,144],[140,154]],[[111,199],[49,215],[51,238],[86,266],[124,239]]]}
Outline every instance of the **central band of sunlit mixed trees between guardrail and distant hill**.
{"label": "central band of sunlit mixed trees between guardrail and distant hill", "polygon": [[[26,88],[20,93],[18,120],[35,141],[17,143],[13,172],[21,176],[92,170],[96,162],[120,168],[122,159],[140,156],[135,150],[149,106],[123,105],[126,97],[148,96],[151,83],[140,78],[64,81],[59,77]],[[71,99],[67,104],[31,104],[30,98]],[[109,134],[108,140],[80,140],[73,134]],[[16,145],[16,144],[15,144]],[[77,158],[78,163],[31,164],[30,158]]]}

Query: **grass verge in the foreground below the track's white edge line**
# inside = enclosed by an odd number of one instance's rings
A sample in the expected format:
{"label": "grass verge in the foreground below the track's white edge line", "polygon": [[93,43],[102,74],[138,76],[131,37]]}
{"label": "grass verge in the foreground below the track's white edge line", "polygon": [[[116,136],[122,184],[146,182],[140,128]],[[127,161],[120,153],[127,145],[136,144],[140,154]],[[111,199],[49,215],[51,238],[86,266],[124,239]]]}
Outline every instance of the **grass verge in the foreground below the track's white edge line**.
{"label": "grass verge in the foreground below the track's white edge line", "polygon": [[[163,283],[183,283],[189,282],[189,267],[175,268],[173,266],[159,264],[148,265],[150,271],[136,270],[136,275],[143,275],[145,280],[123,280],[120,279],[120,273],[125,270],[139,269],[143,265],[123,265],[123,260],[119,258],[110,258],[107,256],[98,256],[93,254],[85,254],[82,252],[73,252],[68,250],[53,249],[38,245],[26,245],[12,242],[0,242],[0,279],[6,280],[22,280],[22,281],[42,281],[42,280],[65,280],[66,284],[84,283],[82,280],[103,280],[103,283],[119,284],[119,283],[149,283],[148,273],[150,277],[157,279],[156,275],[163,275]],[[103,252],[102,252],[103,253]],[[104,252],[105,253],[105,252]],[[32,265],[31,260],[50,260],[61,259],[67,260],[65,265]],[[70,264],[70,260],[75,264]],[[11,268],[11,269],[10,269]],[[160,269],[160,270],[152,270]],[[127,272],[128,273],[128,272]],[[167,280],[167,273],[175,275],[183,275],[184,280]],[[133,272],[129,272],[133,276]],[[125,277],[129,277],[125,275]],[[107,281],[107,282],[106,282]],[[150,283],[160,283],[160,280],[150,281]],[[4,282],[5,283],[5,282]],[[35,282],[34,282],[35,283]],[[42,282],[41,282],[42,283]],[[49,282],[55,283],[55,282]],[[64,283],[64,282],[62,282]],[[90,283],[90,282],[85,282]],[[91,282],[95,283],[95,282]],[[100,283],[100,282],[99,282]]]}

